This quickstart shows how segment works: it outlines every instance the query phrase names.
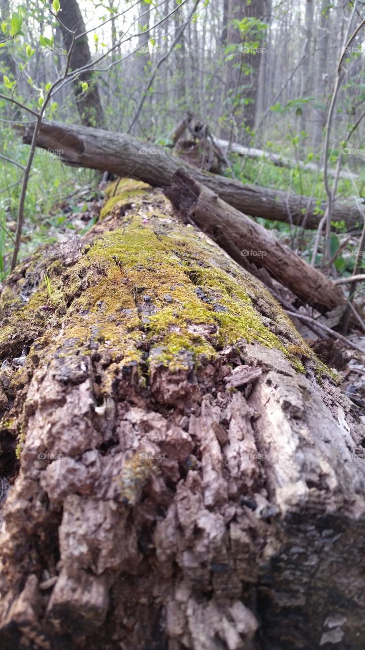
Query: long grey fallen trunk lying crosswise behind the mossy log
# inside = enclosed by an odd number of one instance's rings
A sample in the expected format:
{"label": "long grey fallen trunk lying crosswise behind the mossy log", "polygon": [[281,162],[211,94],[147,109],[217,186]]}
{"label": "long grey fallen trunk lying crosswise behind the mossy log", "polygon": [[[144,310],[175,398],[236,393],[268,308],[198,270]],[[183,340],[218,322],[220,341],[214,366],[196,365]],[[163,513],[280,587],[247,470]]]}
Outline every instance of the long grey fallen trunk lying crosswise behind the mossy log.
{"label": "long grey fallen trunk lying crosswise behind the mossy log", "polygon": [[[23,142],[30,144],[32,125],[17,127]],[[171,185],[174,172],[181,166],[223,201],[250,216],[300,225],[307,214],[306,227],[317,229],[320,222],[316,199],[281,190],[242,185],[238,181],[202,172],[157,145],[140,142],[124,133],[59,122],[43,122],[37,146],[58,151],[66,164],[112,172],[149,183],[153,187]],[[162,151],[162,153],[160,153]],[[151,153],[152,152],[152,153]],[[153,153],[155,152],[155,153]],[[325,205],[320,205],[325,210]],[[361,220],[359,209],[351,203],[334,205],[333,220],[344,221],[347,228]]]}

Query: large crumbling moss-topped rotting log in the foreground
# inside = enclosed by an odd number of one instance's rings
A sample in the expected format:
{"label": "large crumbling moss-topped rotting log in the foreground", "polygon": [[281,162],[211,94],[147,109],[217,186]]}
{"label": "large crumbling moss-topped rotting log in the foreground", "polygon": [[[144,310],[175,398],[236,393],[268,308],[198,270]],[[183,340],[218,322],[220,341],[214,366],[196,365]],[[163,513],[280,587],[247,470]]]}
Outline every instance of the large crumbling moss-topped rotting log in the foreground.
{"label": "large crumbling moss-topped rotting log in the foreground", "polygon": [[362,649],[352,402],[257,279],[133,202],[2,288],[1,648]]}

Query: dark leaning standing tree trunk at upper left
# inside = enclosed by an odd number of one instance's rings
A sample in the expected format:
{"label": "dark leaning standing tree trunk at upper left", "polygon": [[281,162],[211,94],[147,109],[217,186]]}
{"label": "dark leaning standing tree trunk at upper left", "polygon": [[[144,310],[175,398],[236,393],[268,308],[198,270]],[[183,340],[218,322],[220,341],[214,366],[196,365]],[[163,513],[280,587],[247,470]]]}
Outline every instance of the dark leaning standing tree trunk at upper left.
{"label": "dark leaning standing tree trunk at upper left", "polygon": [[[69,51],[72,43],[72,33],[80,36],[86,31],[84,19],[77,0],[63,0],[60,12],[60,27],[64,39],[66,50]],[[73,52],[71,54],[70,68],[77,70],[83,68],[91,60],[88,36],[81,36],[75,40]],[[88,83],[88,90],[82,92],[81,83]],[[81,123],[85,126],[101,126],[103,123],[103,108],[99,97],[99,89],[95,81],[95,75],[92,72],[81,72],[79,78],[75,81],[75,96],[77,109],[79,110]]]}

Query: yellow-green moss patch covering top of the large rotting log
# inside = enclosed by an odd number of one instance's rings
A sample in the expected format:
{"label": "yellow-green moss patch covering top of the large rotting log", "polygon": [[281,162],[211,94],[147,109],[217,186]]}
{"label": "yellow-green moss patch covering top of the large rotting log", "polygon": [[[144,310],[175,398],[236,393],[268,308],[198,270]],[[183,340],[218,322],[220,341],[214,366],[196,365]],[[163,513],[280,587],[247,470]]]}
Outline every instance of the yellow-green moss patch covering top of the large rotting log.
{"label": "yellow-green moss patch covering top of the large rotting log", "polygon": [[147,362],[170,370],[186,368],[182,351],[196,362],[226,344],[256,340],[283,350],[303,371],[299,355],[310,356],[309,348],[297,336],[296,350],[286,346],[250,296],[270,300],[277,318],[294,330],[279,305],[236,265],[224,268],[230,263],[216,247],[165,215],[156,210],[150,220],[142,219],[136,207],[124,227],[94,240],[73,268],[71,285],[81,276],[87,289],[69,309],[64,339],[79,341],[84,352],[94,343],[120,365],[140,361],[144,344],[151,352]]}

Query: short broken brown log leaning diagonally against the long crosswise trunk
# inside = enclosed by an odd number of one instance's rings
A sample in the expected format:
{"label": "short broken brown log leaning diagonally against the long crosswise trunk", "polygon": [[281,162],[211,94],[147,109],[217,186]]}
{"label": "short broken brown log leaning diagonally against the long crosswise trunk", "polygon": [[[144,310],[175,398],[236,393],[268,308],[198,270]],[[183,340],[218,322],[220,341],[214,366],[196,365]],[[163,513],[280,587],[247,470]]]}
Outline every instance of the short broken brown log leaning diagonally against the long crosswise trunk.
{"label": "short broken brown log leaning diagonally against the long crosswise trunk", "polygon": [[166,196],[183,216],[190,216],[238,263],[265,268],[273,278],[319,311],[346,306],[342,290],[319,270],[309,266],[272,233],[227,205],[217,194],[178,170]]}

